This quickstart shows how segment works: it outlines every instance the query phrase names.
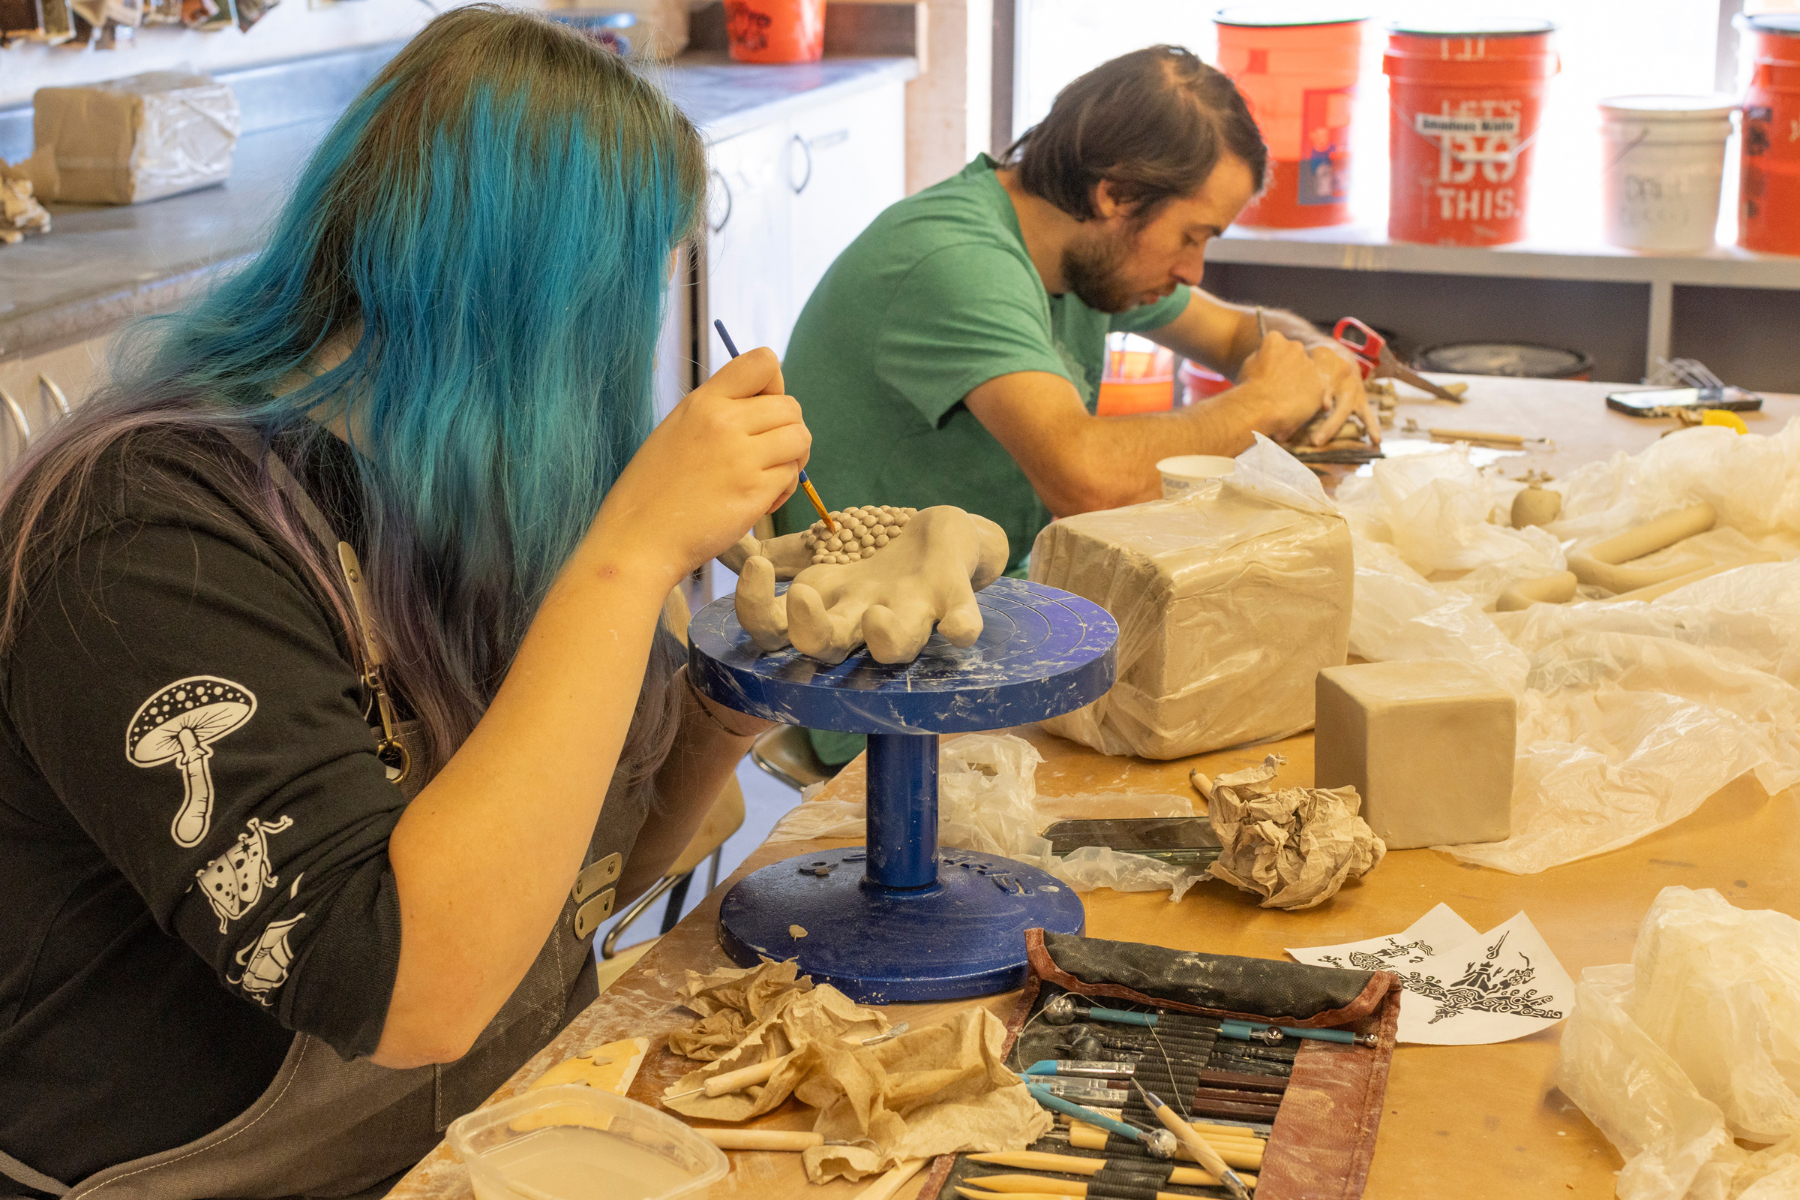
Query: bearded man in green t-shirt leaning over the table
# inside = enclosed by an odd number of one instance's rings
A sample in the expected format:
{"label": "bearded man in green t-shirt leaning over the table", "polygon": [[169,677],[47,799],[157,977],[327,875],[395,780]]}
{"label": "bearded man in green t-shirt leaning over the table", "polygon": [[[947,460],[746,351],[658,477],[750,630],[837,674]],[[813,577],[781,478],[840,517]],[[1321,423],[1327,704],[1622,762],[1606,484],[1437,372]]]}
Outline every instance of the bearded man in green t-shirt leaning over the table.
{"label": "bearded man in green t-shirt leaning over the table", "polygon": [[[1150,47],[1064,88],[1004,164],[979,155],[882,212],[819,281],[781,365],[824,502],[979,513],[1006,531],[1010,574],[1022,574],[1053,516],[1159,497],[1168,455],[1235,455],[1321,410],[1316,441],[1352,412],[1379,437],[1357,367],[1330,338],[1195,288],[1206,243],[1265,166],[1237,86],[1188,50]],[[1238,385],[1174,412],[1098,417],[1114,331]],[[776,533],[814,520],[796,497]],[[826,763],[859,743],[814,736]]]}

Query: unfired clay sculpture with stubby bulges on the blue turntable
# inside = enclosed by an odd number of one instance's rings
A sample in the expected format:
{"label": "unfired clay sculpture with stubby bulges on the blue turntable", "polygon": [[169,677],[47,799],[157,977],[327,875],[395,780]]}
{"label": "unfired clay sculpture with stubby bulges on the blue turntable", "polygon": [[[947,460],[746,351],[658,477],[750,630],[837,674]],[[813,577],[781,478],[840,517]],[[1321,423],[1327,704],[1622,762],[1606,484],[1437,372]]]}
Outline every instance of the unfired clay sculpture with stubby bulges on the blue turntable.
{"label": "unfired clay sculpture with stubby bulges on the blue turntable", "polygon": [[[815,563],[814,529],[770,542],[745,538],[720,556],[727,567],[733,560],[742,563],[733,567],[738,572],[738,622],[765,653],[792,644],[821,662],[839,664],[868,644],[877,662],[893,664],[913,662],[932,626],[952,646],[972,646],[981,637],[976,592],[1006,570],[1008,543],[999,525],[938,506],[907,516],[904,533],[887,533],[887,525],[878,525],[878,534],[868,529],[864,524],[862,536],[869,536],[871,545],[859,542],[855,558],[844,549],[824,551],[850,561]],[[875,547],[882,536],[887,545]],[[783,578],[794,583],[785,596],[776,596],[776,579]]]}

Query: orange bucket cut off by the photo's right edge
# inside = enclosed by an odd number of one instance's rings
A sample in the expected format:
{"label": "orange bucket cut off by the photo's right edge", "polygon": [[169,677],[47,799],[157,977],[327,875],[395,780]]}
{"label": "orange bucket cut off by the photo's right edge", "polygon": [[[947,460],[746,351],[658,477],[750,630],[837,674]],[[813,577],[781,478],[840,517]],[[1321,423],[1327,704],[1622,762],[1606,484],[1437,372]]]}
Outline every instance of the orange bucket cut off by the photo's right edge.
{"label": "orange bucket cut off by the photo's right edge", "polygon": [[1737,245],[1764,254],[1800,254],[1800,13],[1769,13],[1741,23],[1757,34],[1744,94],[1742,182]]}

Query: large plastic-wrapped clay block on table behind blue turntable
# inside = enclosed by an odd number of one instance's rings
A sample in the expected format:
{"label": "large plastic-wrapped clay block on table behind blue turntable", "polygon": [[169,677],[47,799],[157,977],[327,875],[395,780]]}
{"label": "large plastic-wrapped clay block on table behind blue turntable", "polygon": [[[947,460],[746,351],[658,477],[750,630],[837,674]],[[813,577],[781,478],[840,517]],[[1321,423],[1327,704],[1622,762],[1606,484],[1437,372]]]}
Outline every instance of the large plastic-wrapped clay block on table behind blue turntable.
{"label": "large plastic-wrapped clay block on table behind blue turntable", "polygon": [[1031,579],[1120,622],[1112,691],[1042,723],[1102,754],[1174,759],[1296,734],[1319,669],[1348,648],[1350,529],[1264,437],[1181,498],[1051,524]]}

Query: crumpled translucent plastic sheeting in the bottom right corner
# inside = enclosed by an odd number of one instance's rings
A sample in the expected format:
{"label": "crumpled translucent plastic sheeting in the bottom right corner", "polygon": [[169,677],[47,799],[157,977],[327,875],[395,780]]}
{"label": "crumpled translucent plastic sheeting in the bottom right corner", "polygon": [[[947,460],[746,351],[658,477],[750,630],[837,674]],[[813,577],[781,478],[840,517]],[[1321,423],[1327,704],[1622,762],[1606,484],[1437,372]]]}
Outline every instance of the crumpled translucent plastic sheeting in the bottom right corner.
{"label": "crumpled translucent plastic sheeting in the bottom right corner", "polygon": [[1557,1083],[1625,1157],[1620,1200],[1800,1195],[1800,921],[1665,887],[1633,961],[1582,972]]}

